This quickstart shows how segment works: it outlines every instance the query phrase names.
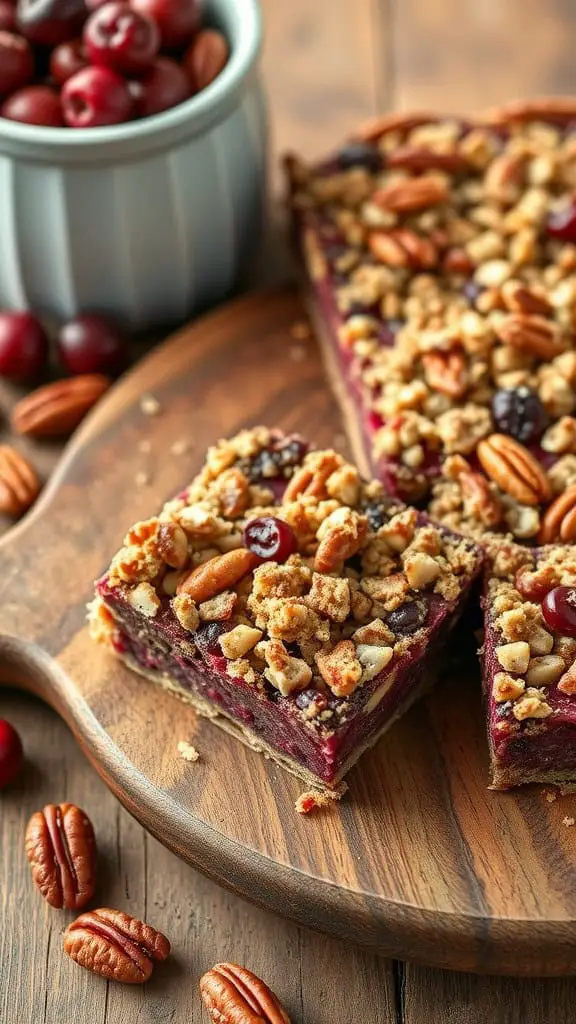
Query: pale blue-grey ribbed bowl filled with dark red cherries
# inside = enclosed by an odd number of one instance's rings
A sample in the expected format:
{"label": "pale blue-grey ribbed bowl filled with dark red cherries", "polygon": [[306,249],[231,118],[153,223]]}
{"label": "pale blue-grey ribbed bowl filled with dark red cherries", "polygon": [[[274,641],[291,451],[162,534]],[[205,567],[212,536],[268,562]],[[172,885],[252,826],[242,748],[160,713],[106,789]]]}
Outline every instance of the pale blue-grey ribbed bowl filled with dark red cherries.
{"label": "pale blue-grey ribbed bowl filled with dark red cherries", "polygon": [[0,0],[0,306],[132,328],[228,294],[265,193],[257,0]]}

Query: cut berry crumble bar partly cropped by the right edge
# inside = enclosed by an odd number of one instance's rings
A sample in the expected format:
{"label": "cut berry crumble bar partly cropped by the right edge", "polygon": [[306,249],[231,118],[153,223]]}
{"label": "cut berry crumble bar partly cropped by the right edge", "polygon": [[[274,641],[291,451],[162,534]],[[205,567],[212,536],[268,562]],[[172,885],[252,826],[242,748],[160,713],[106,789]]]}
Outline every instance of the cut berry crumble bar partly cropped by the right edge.
{"label": "cut berry crumble bar partly cropped by the right edge", "polygon": [[484,607],[493,788],[576,782],[576,549],[501,545]]}

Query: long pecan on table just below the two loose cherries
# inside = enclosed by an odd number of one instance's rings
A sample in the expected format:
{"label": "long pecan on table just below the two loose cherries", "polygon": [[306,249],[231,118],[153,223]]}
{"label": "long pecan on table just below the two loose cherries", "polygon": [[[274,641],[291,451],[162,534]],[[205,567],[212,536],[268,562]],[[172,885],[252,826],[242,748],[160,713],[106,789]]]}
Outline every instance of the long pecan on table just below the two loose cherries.
{"label": "long pecan on table just below the two loose cherries", "polygon": [[110,387],[108,377],[84,374],[44,384],[20,398],[12,410],[16,434],[58,437],[70,434]]}

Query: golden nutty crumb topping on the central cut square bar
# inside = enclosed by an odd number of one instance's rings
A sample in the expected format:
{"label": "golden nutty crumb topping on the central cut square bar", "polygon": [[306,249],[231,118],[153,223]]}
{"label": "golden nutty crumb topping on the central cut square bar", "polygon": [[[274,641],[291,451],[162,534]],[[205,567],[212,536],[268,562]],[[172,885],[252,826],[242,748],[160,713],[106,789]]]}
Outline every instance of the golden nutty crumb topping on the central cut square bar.
{"label": "golden nutty crumb topping on the central cut square bar", "polygon": [[[276,557],[247,548],[254,523],[273,524]],[[305,692],[302,717],[328,721],[330,699],[343,707],[422,642],[430,607],[457,601],[481,560],[342,456],[256,427],[129,530],[107,585],[139,614],[173,615],[233,678]]]}

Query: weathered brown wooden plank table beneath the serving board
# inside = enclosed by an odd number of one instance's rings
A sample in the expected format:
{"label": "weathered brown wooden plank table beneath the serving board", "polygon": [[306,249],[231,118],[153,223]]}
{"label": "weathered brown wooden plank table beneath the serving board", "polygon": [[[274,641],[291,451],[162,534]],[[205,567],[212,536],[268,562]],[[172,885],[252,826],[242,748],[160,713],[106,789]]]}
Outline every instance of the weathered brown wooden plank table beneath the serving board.
{"label": "weathered brown wooden plank table beneath the serving board", "polygon": [[[570,0],[263,0],[264,69],[277,151],[320,154],[390,105],[471,110],[512,94],[573,92]],[[45,473],[58,451],[31,444]],[[6,524],[4,524],[6,525]],[[378,961],[254,908],[151,839],[83,760],[67,728],[33,698],[0,691],[28,764],[0,801],[0,1021],[6,1024],[195,1024],[202,971],[251,967],[294,1024],[569,1024],[576,981],[515,981]],[[71,969],[67,915],[32,890],[22,837],[30,814],[71,800],[101,849],[98,897],[150,920],[174,955],[141,989]],[[385,842],[385,837],[383,837]]]}

